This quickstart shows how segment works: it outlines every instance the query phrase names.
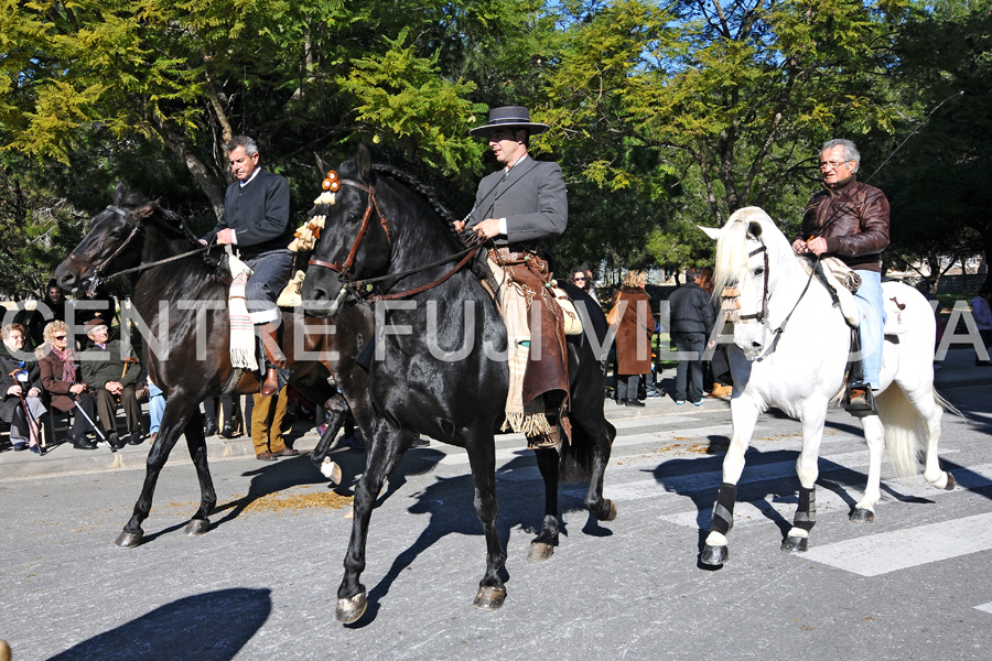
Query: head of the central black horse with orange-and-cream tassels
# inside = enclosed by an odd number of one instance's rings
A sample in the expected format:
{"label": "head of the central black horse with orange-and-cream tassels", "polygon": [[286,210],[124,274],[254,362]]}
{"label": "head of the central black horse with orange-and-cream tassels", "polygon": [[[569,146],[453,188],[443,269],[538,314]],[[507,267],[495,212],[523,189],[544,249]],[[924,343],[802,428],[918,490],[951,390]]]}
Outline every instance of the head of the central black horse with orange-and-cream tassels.
{"label": "head of the central black horse with orange-and-cream tassels", "polygon": [[303,281],[306,312],[332,316],[344,300],[345,285],[388,271],[391,236],[376,197],[371,156],[365,145],[337,172],[317,159],[324,192],[310,216],[323,216],[324,225]]}

